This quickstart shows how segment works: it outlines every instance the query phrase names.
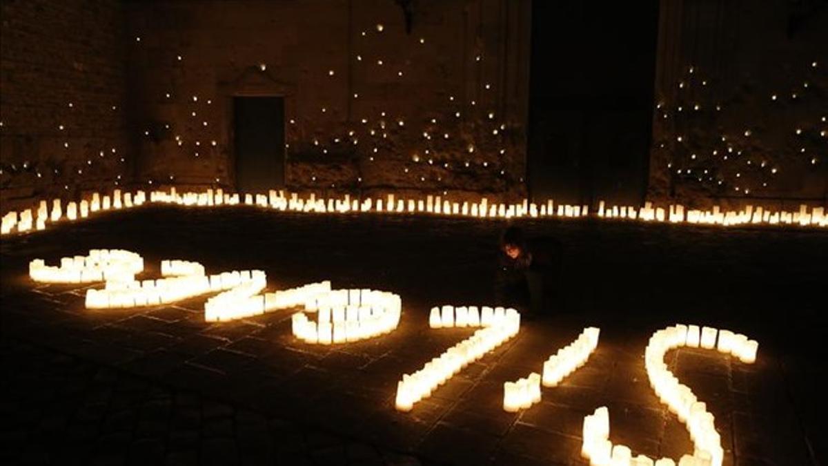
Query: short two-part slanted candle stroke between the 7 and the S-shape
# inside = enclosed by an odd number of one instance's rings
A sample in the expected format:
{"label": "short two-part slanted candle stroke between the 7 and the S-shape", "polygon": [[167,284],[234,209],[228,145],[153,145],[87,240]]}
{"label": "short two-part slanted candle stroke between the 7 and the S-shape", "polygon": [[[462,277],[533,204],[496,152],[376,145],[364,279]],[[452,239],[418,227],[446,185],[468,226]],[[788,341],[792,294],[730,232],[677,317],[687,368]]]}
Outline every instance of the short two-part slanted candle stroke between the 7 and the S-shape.
{"label": "short two-part slanted candle stroke between the 7 and the S-shape", "polygon": [[546,387],[557,386],[566,376],[584,366],[598,346],[599,333],[599,328],[585,328],[574,342],[543,363],[543,376],[532,372],[517,381],[504,382],[503,410],[513,413],[527,409],[541,400],[541,383]]}

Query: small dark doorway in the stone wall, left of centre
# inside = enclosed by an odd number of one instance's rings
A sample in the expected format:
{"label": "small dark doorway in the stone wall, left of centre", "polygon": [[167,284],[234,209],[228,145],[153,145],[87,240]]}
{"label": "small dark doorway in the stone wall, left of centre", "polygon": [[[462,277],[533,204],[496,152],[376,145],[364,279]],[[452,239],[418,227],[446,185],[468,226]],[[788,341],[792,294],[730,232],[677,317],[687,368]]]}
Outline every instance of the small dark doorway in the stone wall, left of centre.
{"label": "small dark doorway in the stone wall, left of centre", "polygon": [[236,188],[267,193],[285,184],[285,100],[233,98]]}

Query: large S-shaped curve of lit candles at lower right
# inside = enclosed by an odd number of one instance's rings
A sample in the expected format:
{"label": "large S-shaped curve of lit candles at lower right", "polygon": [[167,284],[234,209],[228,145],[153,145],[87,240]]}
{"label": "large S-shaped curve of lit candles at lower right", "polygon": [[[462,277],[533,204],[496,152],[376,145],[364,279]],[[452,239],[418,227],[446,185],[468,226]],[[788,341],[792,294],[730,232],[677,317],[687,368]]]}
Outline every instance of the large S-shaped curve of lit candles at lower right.
{"label": "large S-shaped curve of lit candles at lower right", "polygon": [[[715,417],[707,410],[705,402],[696,398],[689,386],[673,376],[664,362],[665,354],[679,347],[715,347],[722,354],[738,357],[741,362],[753,363],[756,361],[758,343],[729,330],[678,324],[653,333],[644,351],[650,386],[662,403],[686,424],[696,447],[693,454],[684,455],[678,464],[720,466],[724,449],[721,446],[720,434],[715,430]],[[669,458],[654,461],[644,455],[638,455],[633,459],[632,450],[628,446],[613,444],[609,440],[609,410],[605,406],[599,407],[592,415],[584,418],[583,429],[581,454],[590,460],[590,464],[676,464]]]}

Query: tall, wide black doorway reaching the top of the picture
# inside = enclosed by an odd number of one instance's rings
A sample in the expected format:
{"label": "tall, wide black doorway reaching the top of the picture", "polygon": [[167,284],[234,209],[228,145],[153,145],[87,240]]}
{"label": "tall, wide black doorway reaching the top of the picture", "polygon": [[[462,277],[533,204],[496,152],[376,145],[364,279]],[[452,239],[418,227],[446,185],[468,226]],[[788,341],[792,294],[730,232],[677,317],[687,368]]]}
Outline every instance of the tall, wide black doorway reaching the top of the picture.
{"label": "tall, wide black doorway reaching the top of the picture", "polygon": [[533,199],[643,200],[657,30],[657,0],[532,2]]}

